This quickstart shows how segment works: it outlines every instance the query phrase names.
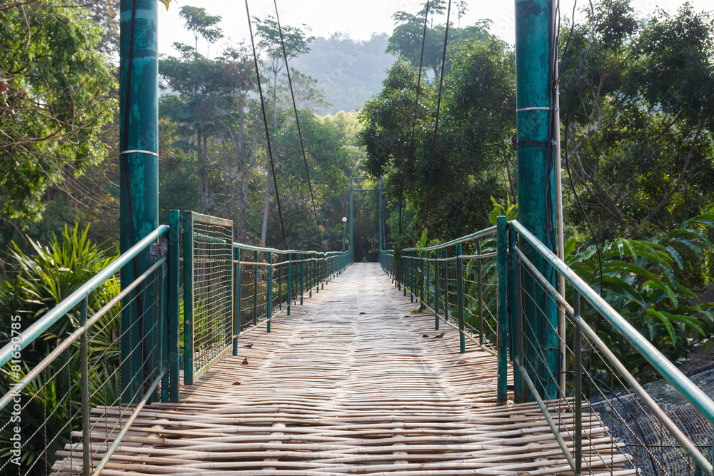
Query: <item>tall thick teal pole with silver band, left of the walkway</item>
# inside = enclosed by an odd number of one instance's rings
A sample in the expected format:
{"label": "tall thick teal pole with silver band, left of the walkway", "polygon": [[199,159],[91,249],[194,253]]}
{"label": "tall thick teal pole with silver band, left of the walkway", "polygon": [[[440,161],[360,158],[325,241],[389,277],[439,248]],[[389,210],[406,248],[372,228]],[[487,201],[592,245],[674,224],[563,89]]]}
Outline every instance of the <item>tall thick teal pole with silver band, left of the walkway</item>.
{"label": "tall thick teal pole with silver band, left of the walkway", "polygon": [[[119,79],[119,221],[121,253],[159,226],[159,56],[156,0],[121,0]],[[121,287],[154,264],[147,248],[121,270]],[[154,369],[146,355],[154,348],[151,335],[141,335],[156,323],[156,291],[146,283],[139,297],[121,313],[122,402],[133,404],[144,396],[144,380]],[[135,296],[131,293],[128,299]],[[142,339],[144,339],[142,341]]]}

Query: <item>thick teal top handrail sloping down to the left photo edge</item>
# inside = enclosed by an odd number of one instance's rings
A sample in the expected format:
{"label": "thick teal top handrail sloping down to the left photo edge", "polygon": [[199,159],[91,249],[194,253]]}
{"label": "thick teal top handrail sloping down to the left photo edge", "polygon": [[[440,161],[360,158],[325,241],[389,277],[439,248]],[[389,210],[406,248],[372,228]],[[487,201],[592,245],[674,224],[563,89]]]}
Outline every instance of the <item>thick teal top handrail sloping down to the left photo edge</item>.
{"label": "thick teal top handrail sloping down to the left photo edge", "polygon": [[66,313],[69,313],[76,305],[79,305],[92,291],[99,288],[106,280],[111,278],[111,276],[121,270],[121,268],[124,268],[126,264],[130,263],[139,253],[148,248],[151,243],[160,238],[167,231],[169,231],[169,226],[166,225],[161,225],[159,228],[156,228],[156,230],[149,233],[149,235],[139,241],[139,243],[136,243],[136,245],[129,248],[129,250],[126,250],[119,258],[116,258],[116,260],[94,276],[94,278],[91,278],[81,285],[79,289],[74,291],[74,293],[71,293],[71,295],[62,300],[62,302],[52,308],[49,313],[46,313],[39,320],[30,325],[29,328],[24,330],[16,337],[19,343],[15,340],[1,348],[0,367],[6,365],[6,363],[13,358],[14,353],[23,350],[30,345],[30,343],[34,342],[36,338],[39,338],[42,333],[48,330],[54,323],[66,315]]}

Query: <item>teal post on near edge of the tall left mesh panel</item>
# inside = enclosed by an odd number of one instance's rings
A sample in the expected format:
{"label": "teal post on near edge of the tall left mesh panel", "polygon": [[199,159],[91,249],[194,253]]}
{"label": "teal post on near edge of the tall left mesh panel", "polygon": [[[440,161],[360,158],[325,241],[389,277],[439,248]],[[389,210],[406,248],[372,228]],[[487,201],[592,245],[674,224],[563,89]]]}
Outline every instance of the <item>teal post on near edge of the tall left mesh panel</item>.
{"label": "teal post on near edge of the tall left mesh panel", "polygon": [[193,385],[193,216],[183,212],[183,383]]}

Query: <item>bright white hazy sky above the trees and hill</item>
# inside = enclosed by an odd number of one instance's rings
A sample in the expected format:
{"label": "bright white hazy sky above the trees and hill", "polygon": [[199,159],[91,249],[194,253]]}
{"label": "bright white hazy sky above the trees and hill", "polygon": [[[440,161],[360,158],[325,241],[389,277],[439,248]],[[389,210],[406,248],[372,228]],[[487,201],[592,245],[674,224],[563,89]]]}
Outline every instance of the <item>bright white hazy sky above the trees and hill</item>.
{"label": "bright white hazy sky above the trees and hill", "polygon": [[[392,15],[396,11],[416,14],[426,0],[278,0],[281,24],[311,27],[314,36],[330,36],[336,31],[350,34],[354,39],[368,39],[373,32],[391,33]],[[456,2],[454,2],[456,3]],[[633,0],[638,11],[650,13],[657,8],[676,11],[684,0]],[[697,10],[713,9],[712,0],[690,0]],[[584,4],[580,0],[580,4]],[[161,53],[172,54],[175,41],[193,45],[192,34],[185,31],[183,22],[178,18],[178,9],[183,5],[203,6],[209,14],[223,18],[220,26],[226,36],[222,41],[240,41],[248,38],[248,22],[244,0],[211,1],[174,0],[171,9],[166,11],[161,4],[159,14]],[[263,18],[275,15],[273,0],[248,0],[251,16]],[[468,13],[462,24],[472,24],[478,19],[491,19],[491,32],[513,44],[514,1],[481,0],[468,1]],[[573,0],[561,1],[563,15],[569,15],[573,9]],[[578,7],[579,8],[579,7]],[[456,21],[456,9],[452,9]],[[211,56],[221,51],[221,43],[211,46]],[[198,49],[206,54],[206,42],[199,41]]]}

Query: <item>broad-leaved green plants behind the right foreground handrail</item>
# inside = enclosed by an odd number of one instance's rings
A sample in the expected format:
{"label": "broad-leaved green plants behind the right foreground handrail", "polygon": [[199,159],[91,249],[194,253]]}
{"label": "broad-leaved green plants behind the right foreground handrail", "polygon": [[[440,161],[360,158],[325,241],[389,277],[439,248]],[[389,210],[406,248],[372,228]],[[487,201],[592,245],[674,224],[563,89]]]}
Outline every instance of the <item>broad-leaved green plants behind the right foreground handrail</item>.
{"label": "broad-leaved green plants behind the right foreground handrail", "polygon": [[[702,260],[712,245],[702,229],[714,228],[714,213],[692,218],[681,228],[647,241],[618,238],[602,249],[603,298],[673,361],[682,361],[693,346],[710,338],[714,330],[714,304],[698,303],[698,296],[676,275]],[[684,238],[692,238],[691,240]],[[600,292],[595,246],[575,253],[575,240],[565,244],[565,262]],[[600,336],[635,375],[650,369],[613,328],[603,323],[592,308],[584,315],[600,329]]]}

